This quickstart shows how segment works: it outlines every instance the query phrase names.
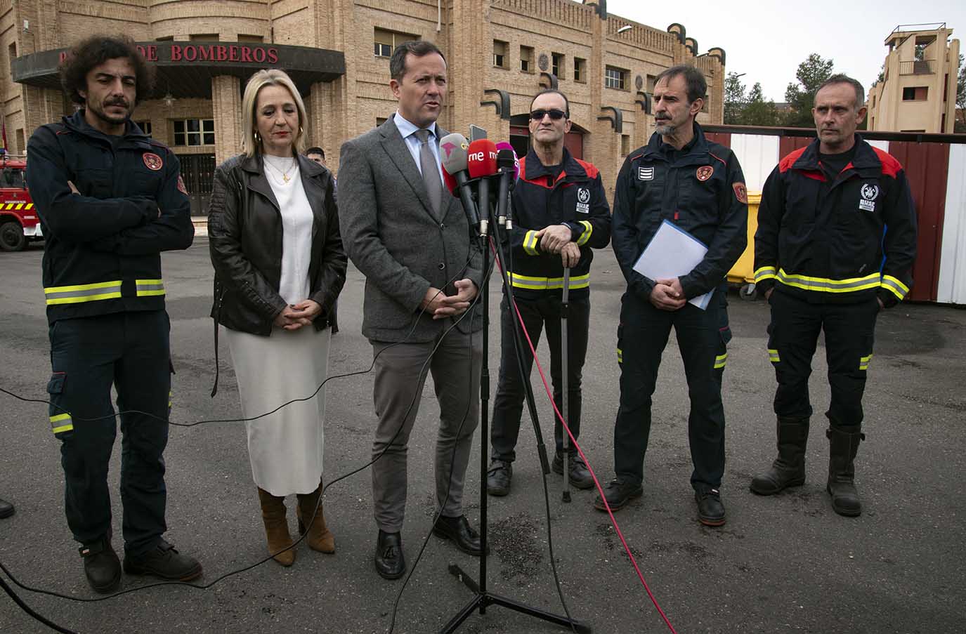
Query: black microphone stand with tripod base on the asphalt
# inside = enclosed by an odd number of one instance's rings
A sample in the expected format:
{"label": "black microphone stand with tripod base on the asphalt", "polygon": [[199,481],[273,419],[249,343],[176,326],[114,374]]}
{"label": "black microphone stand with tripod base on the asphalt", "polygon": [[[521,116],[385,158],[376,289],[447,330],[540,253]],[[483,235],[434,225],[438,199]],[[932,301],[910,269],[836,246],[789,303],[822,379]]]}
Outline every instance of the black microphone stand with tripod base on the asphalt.
{"label": "black microphone stand with tripod base on the asphalt", "polygon": [[[504,203],[500,201],[500,205]],[[493,217],[490,213],[490,203],[489,201],[480,201],[480,220],[486,220]],[[505,214],[504,214],[505,215]],[[491,223],[494,228],[494,242],[497,245],[497,259],[500,263],[504,262],[502,255],[502,248],[500,247],[499,240],[499,229],[500,226],[497,222]],[[488,244],[488,239],[481,236],[481,246],[483,250],[483,272],[484,274],[490,270],[491,256]],[[509,272],[508,269],[504,268],[504,271]],[[499,605],[504,608],[509,608],[516,612],[526,614],[530,617],[534,617],[539,620],[546,620],[548,622],[554,623],[556,625],[562,625],[568,628],[570,631],[579,632],[580,634],[590,634],[593,630],[589,625],[586,625],[578,620],[568,619],[567,617],[561,617],[555,615],[551,612],[546,612],[531,606],[528,606],[520,601],[515,601],[511,598],[501,596],[499,594],[491,593],[487,590],[487,502],[488,494],[486,490],[486,480],[487,480],[487,468],[489,466],[489,446],[490,446],[490,432],[489,432],[489,402],[490,402],[490,369],[488,364],[489,359],[489,339],[490,339],[490,276],[486,275],[483,278],[483,286],[480,292],[483,293],[483,367],[480,372],[480,548],[482,549],[482,554],[480,555],[479,563],[479,583],[475,582],[469,574],[464,572],[463,568],[456,564],[450,564],[448,570],[450,574],[455,576],[457,579],[463,582],[469,591],[473,593],[473,597],[469,599],[463,608],[445,625],[440,629],[440,634],[450,634],[455,632],[460,628],[460,625],[467,619],[469,615],[473,613],[474,610],[479,609],[481,615],[486,614],[487,607],[491,605]],[[509,286],[509,285],[506,285]],[[510,311],[514,311],[514,306],[512,302],[512,291],[510,300]],[[520,372],[523,373],[523,357],[519,354],[520,345],[520,333],[517,327],[516,315],[512,315],[514,324],[514,333],[516,335],[518,345],[517,361],[520,365]],[[531,410],[535,411],[535,405],[533,405],[533,395],[532,390],[529,388],[529,377],[524,377],[525,383],[527,385],[528,402],[530,404]],[[536,425],[536,419],[534,419],[534,425]],[[542,438],[540,437],[540,428],[537,426],[537,436],[538,440],[542,445]],[[541,455],[541,462],[543,463],[544,473],[550,473],[550,468],[547,462],[546,449],[543,449]]]}

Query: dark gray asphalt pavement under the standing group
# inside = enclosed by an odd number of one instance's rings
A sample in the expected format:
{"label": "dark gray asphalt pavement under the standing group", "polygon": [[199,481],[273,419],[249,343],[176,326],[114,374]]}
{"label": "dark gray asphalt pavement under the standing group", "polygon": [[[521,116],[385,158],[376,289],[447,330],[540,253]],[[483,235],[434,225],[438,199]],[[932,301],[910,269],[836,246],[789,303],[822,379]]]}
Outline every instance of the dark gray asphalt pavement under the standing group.
{"label": "dark gray asphalt pavement under the standing group", "polygon": [[[0,253],[0,387],[41,400],[50,372],[42,257],[39,246]],[[583,371],[581,443],[598,478],[607,482],[612,477],[618,397],[614,348],[624,286],[610,250],[598,253],[591,277],[592,332]],[[224,344],[220,389],[216,397],[209,396],[214,357],[207,238],[196,238],[185,252],[165,254],[164,278],[177,372],[172,420],[239,417]],[[351,268],[339,301],[342,330],[331,345],[332,374],[365,371],[371,364],[371,347],[359,332],[363,284],[362,275]],[[497,317],[497,288],[491,296],[492,315]],[[729,299],[734,339],[725,371],[726,525],[711,529],[696,519],[689,484],[688,392],[673,336],[654,397],[644,495],[615,514],[671,624],[682,634],[963,631],[966,528],[959,478],[966,472],[966,312],[904,304],[879,317],[865,397],[867,442],[856,462],[864,512],[853,519],[833,512],[825,492],[828,441],[821,413],[829,397],[821,345],[810,386],[816,415],[808,481],[772,498],[749,491],[753,473],[766,467],[775,453],[775,374],[766,352],[768,306],[740,300],[735,292]],[[490,343],[492,394],[499,365],[496,323]],[[541,344],[538,354],[549,366],[546,345]],[[541,426],[552,438],[549,400],[536,372],[533,381]],[[434,512],[432,460],[438,412],[429,381],[409,452],[403,543],[411,568]],[[366,464],[374,425],[371,373],[328,382],[327,480]],[[479,518],[478,449],[477,432],[467,500],[474,525]],[[544,487],[526,413],[518,456],[512,493],[489,502],[488,588],[562,613],[548,549]],[[166,537],[201,560],[203,582],[263,559],[265,534],[243,424],[172,427],[165,458]],[[116,536],[121,533],[119,464],[120,448],[114,452],[110,475]],[[16,506],[14,517],[0,520],[0,563],[34,589],[76,599],[99,598],[84,580],[77,544],[67,528],[63,482],[46,406],[0,394],[0,497]],[[573,502],[564,504],[560,482],[554,474],[547,477],[554,561],[570,614],[604,634],[669,632],[607,515],[592,509],[593,492],[575,490]],[[436,632],[471,598],[447,566],[460,565],[475,577],[478,560],[438,538],[429,538],[405,590],[403,581],[385,581],[376,573],[367,469],[328,489],[325,510],[338,552],[327,556],[301,544],[291,568],[268,562],[207,590],[164,586],[98,602],[16,592],[48,619],[85,634],[388,632],[400,591],[393,631]],[[294,520],[292,524],[295,531]],[[115,545],[120,548],[120,538]],[[3,578],[12,583],[10,577]],[[126,575],[121,589],[147,583]],[[46,631],[0,593],[0,632]],[[457,631],[569,630],[490,606],[485,615],[471,615]]]}

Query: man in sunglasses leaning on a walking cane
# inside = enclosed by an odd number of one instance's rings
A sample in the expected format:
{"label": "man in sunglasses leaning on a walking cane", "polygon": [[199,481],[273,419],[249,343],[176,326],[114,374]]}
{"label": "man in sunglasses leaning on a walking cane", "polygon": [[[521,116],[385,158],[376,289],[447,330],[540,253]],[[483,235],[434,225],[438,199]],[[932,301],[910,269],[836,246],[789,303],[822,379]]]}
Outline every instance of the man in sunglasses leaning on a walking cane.
{"label": "man in sunglasses leaning on a walking cane", "polygon": [[[604,248],[611,241],[611,207],[597,168],[574,158],[564,147],[564,137],[570,131],[570,104],[563,93],[555,90],[539,93],[530,104],[529,126],[532,147],[520,162],[520,179],[513,190],[514,227],[510,232],[513,262],[504,283],[513,287],[517,309],[534,346],[541,330],[547,329],[554,402],[563,411],[561,295],[564,268],[571,269],[566,351],[570,415],[567,425],[576,438],[581,432],[581,372],[590,325],[591,248]],[[516,318],[516,311],[504,295],[500,302],[499,384],[490,433],[493,457],[487,474],[490,495],[510,492],[526,394],[526,376],[520,375],[514,346],[513,320]],[[528,376],[533,355],[529,350],[522,353]],[[559,474],[563,473],[563,433],[554,416],[553,468]],[[582,457],[573,446],[570,452],[570,482],[578,488],[592,487],[594,481]]]}

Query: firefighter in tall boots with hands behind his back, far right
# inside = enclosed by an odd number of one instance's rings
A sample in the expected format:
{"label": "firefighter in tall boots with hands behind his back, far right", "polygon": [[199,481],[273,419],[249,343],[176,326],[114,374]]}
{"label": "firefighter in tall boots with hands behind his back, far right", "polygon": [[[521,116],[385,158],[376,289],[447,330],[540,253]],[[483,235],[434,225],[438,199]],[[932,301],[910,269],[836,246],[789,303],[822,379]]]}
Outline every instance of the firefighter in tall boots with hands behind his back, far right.
{"label": "firefighter in tall boots with hands behind his back, far right", "polygon": [[832,402],[829,478],[832,508],[856,516],[855,456],[875,319],[912,285],[916,211],[905,172],[855,133],[866,116],[862,84],[834,75],[815,95],[818,138],[781,159],[765,181],[754,235],[754,278],[771,303],[768,355],[778,391],[778,458],[755,476],[754,493],[805,482],[809,374],[825,332]]}

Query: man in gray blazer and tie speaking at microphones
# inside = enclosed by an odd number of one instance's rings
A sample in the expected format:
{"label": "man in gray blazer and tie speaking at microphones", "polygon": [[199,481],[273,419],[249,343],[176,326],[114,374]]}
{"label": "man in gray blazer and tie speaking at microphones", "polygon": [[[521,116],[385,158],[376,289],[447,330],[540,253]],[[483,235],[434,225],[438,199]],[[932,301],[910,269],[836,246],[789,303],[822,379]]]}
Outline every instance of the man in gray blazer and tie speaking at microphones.
{"label": "man in gray blazer and tie speaking at microphones", "polygon": [[431,42],[409,41],[393,52],[389,70],[399,109],[342,146],[339,216],[346,251],[366,276],[362,334],[376,356],[375,564],[386,579],[397,579],[406,572],[400,531],[407,445],[427,369],[440,401],[433,530],[480,555],[479,535],[463,514],[463,487],[482,365],[482,314],[476,307],[465,313],[483,271],[463,207],[442,187],[442,53]]}

